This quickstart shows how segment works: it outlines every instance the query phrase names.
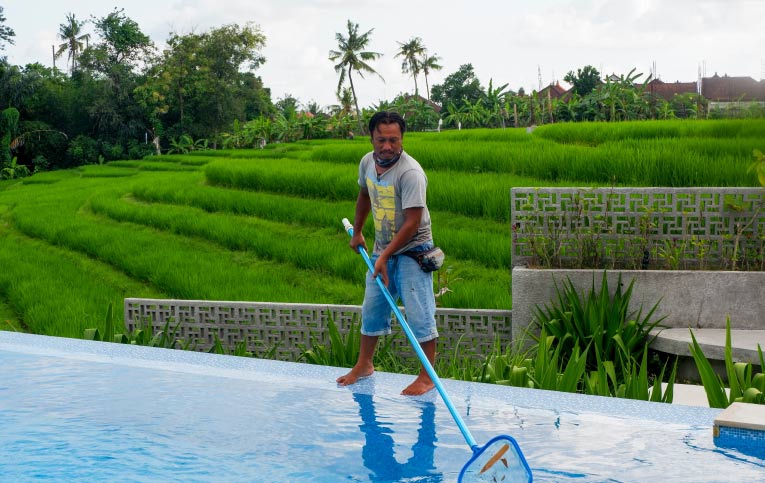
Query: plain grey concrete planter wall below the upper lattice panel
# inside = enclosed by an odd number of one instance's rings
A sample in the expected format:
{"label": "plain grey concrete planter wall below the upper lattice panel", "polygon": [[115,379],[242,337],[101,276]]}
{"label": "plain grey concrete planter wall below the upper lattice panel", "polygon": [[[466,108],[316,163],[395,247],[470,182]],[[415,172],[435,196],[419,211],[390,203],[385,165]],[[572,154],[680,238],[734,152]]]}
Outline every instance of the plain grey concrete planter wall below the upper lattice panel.
{"label": "plain grey concrete planter wall below the upper lattice panel", "polygon": [[[668,327],[724,329],[730,316],[734,329],[765,329],[765,272],[615,270],[608,272],[612,293],[619,273],[624,289],[635,279],[631,309],[642,305],[645,313],[660,302],[656,316],[666,315]],[[531,324],[536,305],[556,300],[554,280],[562,288],[566,277],[586,293],[593,277],[600,288],[603,271],[513,268],[514,341]]]}

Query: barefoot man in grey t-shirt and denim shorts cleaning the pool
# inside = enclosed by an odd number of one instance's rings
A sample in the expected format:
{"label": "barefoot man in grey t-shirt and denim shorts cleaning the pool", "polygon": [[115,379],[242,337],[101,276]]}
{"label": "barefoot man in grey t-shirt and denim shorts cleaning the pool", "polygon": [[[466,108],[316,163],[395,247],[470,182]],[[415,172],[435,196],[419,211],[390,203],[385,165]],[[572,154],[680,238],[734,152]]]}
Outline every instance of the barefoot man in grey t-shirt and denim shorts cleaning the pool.
{"label": "barefoot man in grey t-shirt and denim shorts cleaning the pool", "polygon": [[[404,252],[425,251],[433,247],[430,213],[425,204],[428,179],[414,158],[402,147],[406,122],[395,112],[378,112],[369,120],[374,150],[359,164],[359,196],[353,221],[351,248],[366,249],[362,234],[370,211],[375,222],[372,253],[374,273],[367,272],[366,293],[361,309],[361,346],[351,371],[337,379],[347,386],[372,375],[377,339],[390,334],[391,308],[375,283],[380,275],[394,300],[401,298],[406,318],[431,364],[436,357],[436,303],[433,274],[424,272],[418,262]],[[433,389],[424,368],[401,393],[415,396]]]}

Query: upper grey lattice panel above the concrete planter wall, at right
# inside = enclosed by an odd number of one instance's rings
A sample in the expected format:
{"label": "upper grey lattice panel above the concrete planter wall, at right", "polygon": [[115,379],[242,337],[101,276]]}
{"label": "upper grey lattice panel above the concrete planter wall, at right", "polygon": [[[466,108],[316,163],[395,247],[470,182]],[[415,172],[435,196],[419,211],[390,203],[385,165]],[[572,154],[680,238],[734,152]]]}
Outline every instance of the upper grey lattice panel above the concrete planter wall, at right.
{"label": "upper grey lattice panel above the concrete planter wall, at right", "polygon": [[765,269],[758,188],[513,188],[513,265]]}

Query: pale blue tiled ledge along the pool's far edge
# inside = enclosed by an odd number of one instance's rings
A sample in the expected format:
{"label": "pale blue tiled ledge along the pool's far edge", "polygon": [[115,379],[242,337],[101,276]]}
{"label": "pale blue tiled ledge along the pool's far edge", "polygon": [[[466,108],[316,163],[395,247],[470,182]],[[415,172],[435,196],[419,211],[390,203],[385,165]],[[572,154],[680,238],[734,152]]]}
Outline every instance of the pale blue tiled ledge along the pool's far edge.
{"label": "pale blue tiled ledge along the pool's far edge", "polygon": [[[99,362],[116,362],[126,365],[154,367],[162,370],[178,370],[198,374],[249,379],[256,374],[281,374],[282,376],[305,379],[306,384],[324,385],[347,369],[314,366],[249,357],[233,357],[194,351],[158,349],[126,344],[40,336],[19,332],[0,331],[0,350],[27,352],[44,356],[73,357]],[[379,373],[375,379],[378,386],[382,381],[398,387],[411,382],[410,376],[393,373]],[[443,379],[452,397],[469,400],[480,395],[506,401],[518,406],[550,406],[560,411],[592,411],[620,417],[637,417],[658,421],[687,421],[692,424],[712,426],[719,409],[710,409],[706,404],[704,390],[700,386],[676,385],[674,404],[660,404],[621,398],[608,398],[584,394],[571,394],[542,389],[527,389],[495,384],[471,383]],[[357,391],[366,391],[359,384]],[[374,390],[372,390],[374,392]],[[426,399],[436,399],[437,394],[428,393]]]}

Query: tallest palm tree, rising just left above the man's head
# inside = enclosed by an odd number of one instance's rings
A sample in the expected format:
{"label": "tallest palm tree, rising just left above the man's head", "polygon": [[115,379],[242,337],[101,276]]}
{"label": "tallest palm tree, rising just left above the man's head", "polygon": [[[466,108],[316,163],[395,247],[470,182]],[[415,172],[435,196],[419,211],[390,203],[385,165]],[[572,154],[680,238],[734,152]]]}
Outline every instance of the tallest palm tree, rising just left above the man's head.
{"label": "tallest palm tree, rising just left above the man's head", "polygon": [[348,83],[351,85],[353,102],[356,106],[356,118],[359,122],[359,133],[364,132],[364,126],[361,123],[359,98],[356,95],[356,87],[353,85],[353,71],[355,70],[358,72],[361,78],[364,78],[364,72],[376,74],[383,82],[385,82],[385,79],[383,79],[383,77],[367,63],[382,57],[382,54],[379,52],[364,50],[369,43],[369,36],[373,30],[374,29],[370,29],[365,34],[359,35],[359,24],[348,20],[348,37],[343,36],[343,34],[339,32],[336,33],[335,39],[337,39],[337,50],[329,51],[329,60],[337,62],[337,64],[335,64],[335,72],[340,74],[340,80],[337,83],[338,94],[340,93],[343,84],[345,84],[346,76],[348,77]]}

